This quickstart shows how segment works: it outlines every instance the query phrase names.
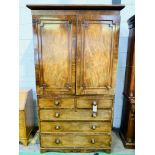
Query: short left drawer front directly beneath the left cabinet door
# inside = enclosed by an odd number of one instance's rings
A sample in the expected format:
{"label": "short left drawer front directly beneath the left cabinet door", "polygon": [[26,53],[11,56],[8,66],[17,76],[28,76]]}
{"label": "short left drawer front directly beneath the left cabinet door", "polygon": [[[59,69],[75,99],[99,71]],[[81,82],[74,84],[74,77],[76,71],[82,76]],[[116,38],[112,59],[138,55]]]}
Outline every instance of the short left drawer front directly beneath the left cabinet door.
{"label": "short left drawer front directly beneath the left cabinet door", "polygon": [[40,108],[74,108],[74,98],[41,98]]}

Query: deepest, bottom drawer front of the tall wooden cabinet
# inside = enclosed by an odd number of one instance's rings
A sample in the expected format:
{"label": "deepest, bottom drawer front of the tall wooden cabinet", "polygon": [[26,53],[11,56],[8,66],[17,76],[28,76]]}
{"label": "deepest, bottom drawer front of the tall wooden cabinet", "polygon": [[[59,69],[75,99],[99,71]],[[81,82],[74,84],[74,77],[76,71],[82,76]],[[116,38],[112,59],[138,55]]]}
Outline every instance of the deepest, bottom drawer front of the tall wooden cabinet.
{"label": "deepest, bottom drawer front of the tall wooden cabinet", "polygon": [[41,147],[103,147],[111,145],[111,136],[101,135],[76,135],[41,134]]}

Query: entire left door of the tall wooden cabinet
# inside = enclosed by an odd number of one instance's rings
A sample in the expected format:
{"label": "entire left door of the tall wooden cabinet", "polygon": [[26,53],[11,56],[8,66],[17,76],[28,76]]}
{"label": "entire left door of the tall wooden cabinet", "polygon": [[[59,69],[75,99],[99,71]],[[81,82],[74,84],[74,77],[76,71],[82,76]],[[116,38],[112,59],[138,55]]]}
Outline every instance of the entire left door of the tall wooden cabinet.
{"label": "entire left door of the tall wooden cabinet", "polygon": [[37,94],[75,94],[75,16],[33,16]]}

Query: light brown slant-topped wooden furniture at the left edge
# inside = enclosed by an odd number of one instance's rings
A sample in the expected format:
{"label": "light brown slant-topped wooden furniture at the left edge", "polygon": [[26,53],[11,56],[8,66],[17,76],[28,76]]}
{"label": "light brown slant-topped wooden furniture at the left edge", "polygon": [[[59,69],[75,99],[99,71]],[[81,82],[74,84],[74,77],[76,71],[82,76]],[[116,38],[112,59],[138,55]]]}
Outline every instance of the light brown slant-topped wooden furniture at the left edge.
{"label": "light brown slant-topped wooden furniture at the left edge", "polygon": [[32,90],[19,92],[19,141],[28,145],[31,132],[34,129],[34,112]]}

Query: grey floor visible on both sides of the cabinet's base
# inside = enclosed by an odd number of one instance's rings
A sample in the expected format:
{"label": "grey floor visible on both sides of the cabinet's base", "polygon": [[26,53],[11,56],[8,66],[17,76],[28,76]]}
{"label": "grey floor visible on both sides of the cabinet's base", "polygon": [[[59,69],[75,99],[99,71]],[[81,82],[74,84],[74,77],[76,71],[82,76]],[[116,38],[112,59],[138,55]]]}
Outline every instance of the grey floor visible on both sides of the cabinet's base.
{"label": "grey floor visible on both sides of the cabinet's base", "polygon": [[[19,144],[19,152],[39,152],[39,138],[38,133],[33,137],[30,138],[30,144],[28,146],[23,146]],[[120,140],[119,134],[116,132],[112,133],[113,141],[112,141],[112,153],[119,153],[119,154],[132,154],[134,155],[134,149],[125,149],[122,141]]]}

